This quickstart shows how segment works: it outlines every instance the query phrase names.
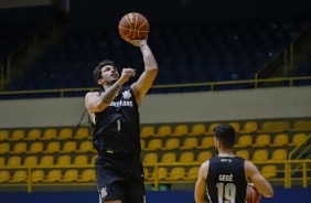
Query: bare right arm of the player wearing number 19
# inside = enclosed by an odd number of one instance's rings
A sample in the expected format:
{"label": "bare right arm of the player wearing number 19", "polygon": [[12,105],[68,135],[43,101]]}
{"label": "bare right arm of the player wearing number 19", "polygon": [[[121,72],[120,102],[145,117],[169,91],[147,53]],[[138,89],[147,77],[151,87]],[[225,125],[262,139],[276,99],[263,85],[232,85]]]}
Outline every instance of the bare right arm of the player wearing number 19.
{"label": "bare right arm of the player wearing number 19", "polygon": [[270,183],[260,174],[258,169],[250,161],[245,161],[245,173],[248,179],[254,183],[256,189],[265,196],[272,197],[274,189]]}

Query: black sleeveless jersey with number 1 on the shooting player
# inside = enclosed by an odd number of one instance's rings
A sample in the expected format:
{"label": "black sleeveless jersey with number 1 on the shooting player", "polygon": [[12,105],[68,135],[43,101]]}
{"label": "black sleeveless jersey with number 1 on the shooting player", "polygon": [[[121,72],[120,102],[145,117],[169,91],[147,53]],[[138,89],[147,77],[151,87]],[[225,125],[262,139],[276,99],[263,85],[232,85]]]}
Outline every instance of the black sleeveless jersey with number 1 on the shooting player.
{"label": "black sleeveless jersey with number 1 on the shooting player", "polygon": [[139,109],[132,89],[121,87],[109,106],[95,113],[93,121],[96,164],[142,173]]}

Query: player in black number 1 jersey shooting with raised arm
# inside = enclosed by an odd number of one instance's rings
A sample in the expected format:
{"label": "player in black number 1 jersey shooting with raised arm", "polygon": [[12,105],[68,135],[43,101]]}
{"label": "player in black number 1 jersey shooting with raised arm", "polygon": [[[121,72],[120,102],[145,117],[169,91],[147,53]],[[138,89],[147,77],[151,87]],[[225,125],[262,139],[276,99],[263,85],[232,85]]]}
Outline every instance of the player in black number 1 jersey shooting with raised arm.
{"label": "player in black number 1 jersey shooting with raised arm", "polygon": [[94,70],[100,92],[85,96],[85,106],[94,124],[93,145],[99,202],[144,203],[146,189],[140,161],[139,110],[141,99],[151,87],[158,64],[146,40],[128,40],[140,47],[144,72],[131,86],[122,86],[136,75],[124,68],[119,76],[112,61],[103,61]]}

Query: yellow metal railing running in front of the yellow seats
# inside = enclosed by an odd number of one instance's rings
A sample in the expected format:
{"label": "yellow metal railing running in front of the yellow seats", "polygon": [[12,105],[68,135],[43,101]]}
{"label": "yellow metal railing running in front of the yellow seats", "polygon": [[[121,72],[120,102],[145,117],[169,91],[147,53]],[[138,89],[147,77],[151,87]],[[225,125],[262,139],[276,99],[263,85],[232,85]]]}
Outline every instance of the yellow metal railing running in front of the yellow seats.
{"label": "yellow metal railing running in front of the yellow seats", "polygon": [[[299,185],[307,188],[308,186],[308,181],[311,180],[311,175],[308,175],[308,172],[311,172],[311,160],[287,160],[287,161],[265,161],[265,162],[254,162],[257,167],[261,168],[264,165],[277,165],[278,170],[277,173],[281,175],[275,175],[272,178],[267,178],[268,181],[279,183],[283,185],[285,188],[290,188],[291,185],[288,184],[290,181],[296,181],[299,182]],[[294,179],[290,178],[290,173],[292,172],[290,170],[290,165],[297,165],[301,164],[302,168],[299,169],[301,172],[300,177],[297,177]],[[200,167],[201,163],[199,162],[192,162],[192,163],[156,163],[156,164],[144,164],[144,168],[150,168],[152,169],[152,173],[149,177],[146,177],[146,184],[152,184],[154,185],[156,190],[159,190],[159,185],[161,184],[184,184],[184,183],[195,183],[196,180],[186,180],[185,178],[179,178],[179,179],[160,179],[160,173],[159,173],[159,168],[173,168],[173,167]],[[20,182],[20,183],[14,183],[14,181],[11,180],[7,183],[0,183],[1,186],[26,186],[28,192],[33,191],[33,186],[40,185],[96,185],[95,181],[90,182],[55,182],[55,183],[47,183],[47,182],[32,182],[31,180],[31,174],[33,170],[42,169],[42,170],[51,170],[51,169],[94,169],[94,164],[87,164],[87,165],[35,165],[35,167],[2,167],[1,171],[3,170],[26,170],[26,182]],[[170,174],[170,170],[168,170],[168,177]],[[180,174],[174,174],[174,175],[180,175]],[[187,175],[185,173],[185,175]]]}

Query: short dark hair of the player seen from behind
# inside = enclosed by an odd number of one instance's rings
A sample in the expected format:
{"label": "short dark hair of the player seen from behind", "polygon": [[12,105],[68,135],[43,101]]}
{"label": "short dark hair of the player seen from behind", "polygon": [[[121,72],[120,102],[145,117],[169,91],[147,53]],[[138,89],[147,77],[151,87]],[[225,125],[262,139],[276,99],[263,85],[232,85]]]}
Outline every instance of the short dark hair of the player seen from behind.
{"label": "short dark hair of the player seen from behind", "polygon": [[235,140],[235,129],[227,124],[221,124],[213,129],[215,138],[225,149],[232,149]]}

